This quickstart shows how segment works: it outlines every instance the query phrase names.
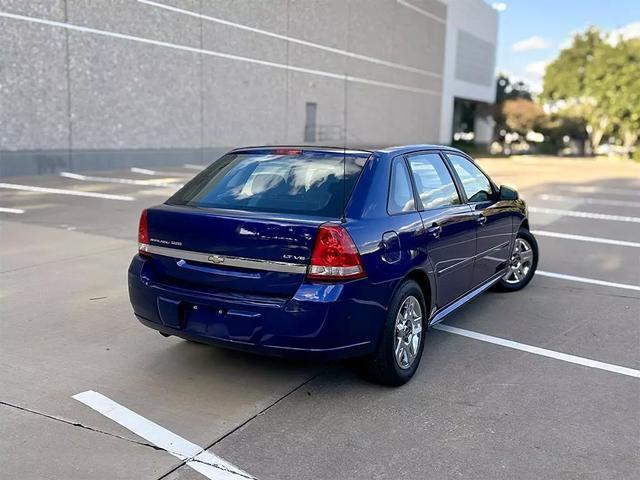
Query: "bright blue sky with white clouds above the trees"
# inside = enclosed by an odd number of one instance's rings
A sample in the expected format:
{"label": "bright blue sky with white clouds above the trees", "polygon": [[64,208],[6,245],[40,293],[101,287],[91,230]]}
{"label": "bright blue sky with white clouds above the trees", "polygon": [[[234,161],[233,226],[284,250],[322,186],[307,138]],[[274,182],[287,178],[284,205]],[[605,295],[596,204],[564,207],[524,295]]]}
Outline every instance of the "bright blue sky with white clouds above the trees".
{"label": "bright blue sky with white clouds above the trees", "polygon": [[546,64],[590,25],[640,37],[640,0],[489,0],[499,12],[497,71],[542,89]]}

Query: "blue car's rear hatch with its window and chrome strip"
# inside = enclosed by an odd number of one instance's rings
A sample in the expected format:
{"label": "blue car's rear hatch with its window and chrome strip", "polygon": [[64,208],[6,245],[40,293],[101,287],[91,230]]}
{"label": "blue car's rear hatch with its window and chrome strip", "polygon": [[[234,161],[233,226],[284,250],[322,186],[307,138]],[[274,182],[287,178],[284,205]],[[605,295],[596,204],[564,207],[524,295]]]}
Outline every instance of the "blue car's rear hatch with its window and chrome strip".
{"label": "blue car's rear hatch with its window and chrome strip", "polygon": [[142,250],[156,281],[290,298],[304,280],[318,227],[339,221],[366,160],[347,157],[345,166],[342,152],[225,155],[147,211]]}

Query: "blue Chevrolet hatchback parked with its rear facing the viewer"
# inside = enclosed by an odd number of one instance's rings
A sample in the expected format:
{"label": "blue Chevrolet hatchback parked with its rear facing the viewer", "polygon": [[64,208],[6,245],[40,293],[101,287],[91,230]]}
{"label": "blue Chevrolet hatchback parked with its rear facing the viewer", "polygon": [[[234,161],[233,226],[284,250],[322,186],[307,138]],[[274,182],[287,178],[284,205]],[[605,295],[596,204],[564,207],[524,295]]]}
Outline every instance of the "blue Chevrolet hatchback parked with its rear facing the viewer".
{"label": "blue Chevrolet hatchback parked with its rear facing the viewer", "polygon": [[424,331],[476,295],[531,280],[518,193],[460,150],[251,147],[142,212],[136,317],[165,336],[261,354],[358,357],[401,385]]}

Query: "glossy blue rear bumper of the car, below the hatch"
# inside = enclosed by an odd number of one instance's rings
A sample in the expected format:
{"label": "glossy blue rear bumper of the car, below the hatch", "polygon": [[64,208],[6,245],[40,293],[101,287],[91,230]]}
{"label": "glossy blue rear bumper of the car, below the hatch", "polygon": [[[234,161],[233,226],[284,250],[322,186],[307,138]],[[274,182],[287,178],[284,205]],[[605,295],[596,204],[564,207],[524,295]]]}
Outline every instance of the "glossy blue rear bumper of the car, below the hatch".
{"label": "glossy blue rear bumper of the car, below the hatch", "polygon": [[339,359],[371,353],[391,285],[368,279],[302,284],[293,298],[196,290],[154,280],[146,259],[129,267],[129,298],[144,325],[168,335],[281,357]]}

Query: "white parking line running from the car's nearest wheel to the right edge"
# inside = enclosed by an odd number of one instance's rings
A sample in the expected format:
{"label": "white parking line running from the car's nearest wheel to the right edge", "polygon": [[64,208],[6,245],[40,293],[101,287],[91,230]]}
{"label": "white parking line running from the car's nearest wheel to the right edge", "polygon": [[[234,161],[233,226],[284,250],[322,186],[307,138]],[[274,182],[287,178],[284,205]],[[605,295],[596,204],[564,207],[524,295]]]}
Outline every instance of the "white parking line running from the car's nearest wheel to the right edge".
{"label": "white parking line running from the car's nearest wheel to the right edge", "polygon": [[597,368],[599,370],[606,370],[607,372],[619,373],[621,375],[628,375],[629,377],[640,378],[640,370],[636,370],[634,368],[621,367],[619,365],[613,365],[611,363],[604,363],[597,360],[591,360],[589,358],[578,357],[576,355],[556,352],[555,350],[547,350],[546,348],[534,347],[533,345],[514,342],[513,340],[507,340],[506,338],[492,337],[491,335],[485,335],[484,333],[473,332],[471,330],[465,330],[458,327],[451,327],[449,325],[443,325],[441,323],[438,325],[434,325],[433,328],[435,328],[436,330],[453,333],[455,335],[462,335],[463,337],[473,338],[482,342],[488,342],[507,348],[513,348],[514,350],[520,350],[522,352],[529,352],[535,355],[541,355],[543,357],[554,358],[563,362],[575,363],[577,365],[583,365],[585,367]]}

